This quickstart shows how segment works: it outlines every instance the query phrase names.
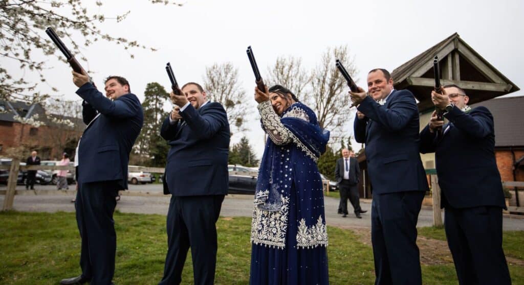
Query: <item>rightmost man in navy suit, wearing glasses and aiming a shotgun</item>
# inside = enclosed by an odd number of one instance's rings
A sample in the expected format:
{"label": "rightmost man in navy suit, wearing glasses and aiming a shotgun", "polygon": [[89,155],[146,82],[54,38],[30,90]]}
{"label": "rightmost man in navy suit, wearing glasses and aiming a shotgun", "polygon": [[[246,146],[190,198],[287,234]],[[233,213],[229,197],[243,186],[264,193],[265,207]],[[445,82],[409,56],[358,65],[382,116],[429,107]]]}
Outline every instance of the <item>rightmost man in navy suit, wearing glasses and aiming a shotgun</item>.
{"label": "rightmost man in navy suit, wearing glasses and aiming a shotgun", "polygon": [[493,116],[485,107],[470,109],[456,85],[431,93],[436,112],[420,132],[420,152],[435,153],[445,208],[447,244],[460,284],[511,284],[502,249],[502,209],[506,208],[495,160]]}

